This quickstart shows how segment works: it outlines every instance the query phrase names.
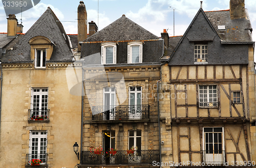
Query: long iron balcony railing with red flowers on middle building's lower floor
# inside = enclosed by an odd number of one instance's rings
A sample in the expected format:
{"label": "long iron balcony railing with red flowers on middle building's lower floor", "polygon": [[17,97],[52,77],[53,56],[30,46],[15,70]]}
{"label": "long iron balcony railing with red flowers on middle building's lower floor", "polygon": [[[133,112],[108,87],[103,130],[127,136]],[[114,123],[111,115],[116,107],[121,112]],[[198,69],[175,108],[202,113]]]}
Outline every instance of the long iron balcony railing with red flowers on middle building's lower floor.
{"label": "long iron balcony railing with red flowers on middle building's lower floor", "polygon": [[82,151],[81,164],[153,164],[160,162],[159,150],[137,150],[134,153],[127,151]]}

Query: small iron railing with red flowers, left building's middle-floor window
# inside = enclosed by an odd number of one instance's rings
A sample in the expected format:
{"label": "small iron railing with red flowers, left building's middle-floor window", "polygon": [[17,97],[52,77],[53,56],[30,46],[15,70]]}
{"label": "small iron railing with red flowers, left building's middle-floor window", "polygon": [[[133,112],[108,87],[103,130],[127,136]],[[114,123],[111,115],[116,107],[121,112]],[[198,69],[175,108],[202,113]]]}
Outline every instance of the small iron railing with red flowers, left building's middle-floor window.
{"label": "small iron railing with red flowers, left building's middle-floor window", "polygon": [[49,121],[50,109],[34,110],[29,109],[28,121]]}

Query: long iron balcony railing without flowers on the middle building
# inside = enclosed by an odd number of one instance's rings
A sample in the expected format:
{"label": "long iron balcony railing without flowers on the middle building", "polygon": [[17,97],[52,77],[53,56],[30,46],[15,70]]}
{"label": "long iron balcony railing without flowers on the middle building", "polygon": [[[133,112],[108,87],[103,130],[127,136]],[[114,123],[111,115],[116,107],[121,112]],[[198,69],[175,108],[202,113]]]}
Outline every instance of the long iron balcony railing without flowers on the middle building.
{"label": "long iron balcony railing without flowers on the middle building", "polygon": [[150,119],[150,105],[93,106],[92,120]]}

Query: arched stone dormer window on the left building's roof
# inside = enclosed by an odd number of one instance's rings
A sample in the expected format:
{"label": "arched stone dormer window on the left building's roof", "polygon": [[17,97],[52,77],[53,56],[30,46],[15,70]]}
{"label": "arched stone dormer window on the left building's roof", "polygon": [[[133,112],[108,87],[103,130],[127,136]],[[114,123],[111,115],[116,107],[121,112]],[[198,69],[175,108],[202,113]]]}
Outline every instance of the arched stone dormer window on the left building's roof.
{"label": "arched stone dormer window on the left building's roof", "polygon": [[35,36],[29,40],[31,46],[31,60],[34,60],[35,68],[46,68],[46,61],[49,61],[53,46],[55,45],[50,39],[44,36]]}

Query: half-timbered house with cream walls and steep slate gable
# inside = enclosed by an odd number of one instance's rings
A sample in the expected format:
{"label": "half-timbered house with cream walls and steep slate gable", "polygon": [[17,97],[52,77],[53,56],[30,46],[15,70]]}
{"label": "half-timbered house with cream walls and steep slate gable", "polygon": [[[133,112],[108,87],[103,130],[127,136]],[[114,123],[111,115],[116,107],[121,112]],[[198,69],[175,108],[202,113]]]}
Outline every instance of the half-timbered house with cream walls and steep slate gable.
{"label": "half-timbered house with cream walls and steep slate gable", "polygon": [[169,38],[159,89],[164,167],[255,165],[254,42],[247,11],[235,17],[233,3],[200,8],[183,36]]}

